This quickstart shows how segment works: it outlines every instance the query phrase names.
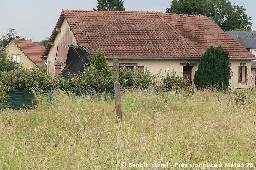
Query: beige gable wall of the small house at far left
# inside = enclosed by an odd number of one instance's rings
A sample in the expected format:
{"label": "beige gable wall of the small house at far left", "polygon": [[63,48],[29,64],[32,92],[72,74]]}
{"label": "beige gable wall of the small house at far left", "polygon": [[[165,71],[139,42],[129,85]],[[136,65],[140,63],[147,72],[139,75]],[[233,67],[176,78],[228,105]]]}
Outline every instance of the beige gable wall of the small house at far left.
{"label": "beige gable wall of the small house at far left", "polygon": [[20,55],[20,64],[23,65],[24,68],[33,68],[34,63],[20,50],[20,48],[15,45],[15,43],[11,42],[6,48],[6,51],[9,51],[10,58],[12,58],[12,54],[21,54]]}

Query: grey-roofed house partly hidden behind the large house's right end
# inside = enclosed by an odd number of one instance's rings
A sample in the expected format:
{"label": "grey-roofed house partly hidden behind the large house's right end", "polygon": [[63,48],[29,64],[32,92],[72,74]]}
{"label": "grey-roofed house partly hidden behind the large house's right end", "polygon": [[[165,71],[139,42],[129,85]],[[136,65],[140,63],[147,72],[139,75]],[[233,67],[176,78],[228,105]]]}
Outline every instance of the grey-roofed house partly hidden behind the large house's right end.
{"label": "grey-roofed house partly hidden behind the large house's right end", "polygon": [[[233,39],[243,45],[248,51],[256,56],[256,32],[252,31],[226,31]],[[255,60],[251,61],[251,79],[255,82]]]}

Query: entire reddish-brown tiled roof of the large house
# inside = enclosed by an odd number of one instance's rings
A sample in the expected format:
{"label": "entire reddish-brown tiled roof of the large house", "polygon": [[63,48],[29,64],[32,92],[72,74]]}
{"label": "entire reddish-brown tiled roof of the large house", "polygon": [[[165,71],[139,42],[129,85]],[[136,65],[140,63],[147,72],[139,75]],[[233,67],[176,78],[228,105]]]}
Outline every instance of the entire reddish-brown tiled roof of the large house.
{"label": "entire reddish-brown tiled roof of the large house", "polygon": [[[210,45],[221,45],[230,58],[255,59],[205,16],[63,10],[55,28],[60,28],[64,18],[79,45],[101,49],[106,58],[200,58]],[[49,42],[56,35],[54,29]],[[49,42],[44,56],[48,55]]]}

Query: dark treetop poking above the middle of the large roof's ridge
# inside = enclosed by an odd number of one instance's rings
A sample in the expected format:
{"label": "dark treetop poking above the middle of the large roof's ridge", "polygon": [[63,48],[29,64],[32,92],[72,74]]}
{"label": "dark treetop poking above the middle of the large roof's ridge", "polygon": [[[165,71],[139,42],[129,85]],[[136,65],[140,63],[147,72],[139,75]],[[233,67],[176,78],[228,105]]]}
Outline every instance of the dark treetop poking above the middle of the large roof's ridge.
{"label": "dark treetop poking above the middle of the large roof's ridge", "polygon": [[97,0],[97,9],[94,11],[125,11],[124,2],[122,0]]}

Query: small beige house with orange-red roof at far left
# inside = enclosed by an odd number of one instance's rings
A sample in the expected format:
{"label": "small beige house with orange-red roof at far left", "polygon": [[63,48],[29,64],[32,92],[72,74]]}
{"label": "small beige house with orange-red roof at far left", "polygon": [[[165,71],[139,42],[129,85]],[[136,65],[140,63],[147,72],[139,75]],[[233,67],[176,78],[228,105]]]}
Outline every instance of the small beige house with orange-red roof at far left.
{"label": "small beige house with orange-red roof at far left", "polygon": [[42,56],[45,48],[40,42],[32,40],[11,40],[4,48],[9,51],[12,61],[23,65],[24,68],[32,68],[36,65],[41,68],[44,64],[38,55]]}

